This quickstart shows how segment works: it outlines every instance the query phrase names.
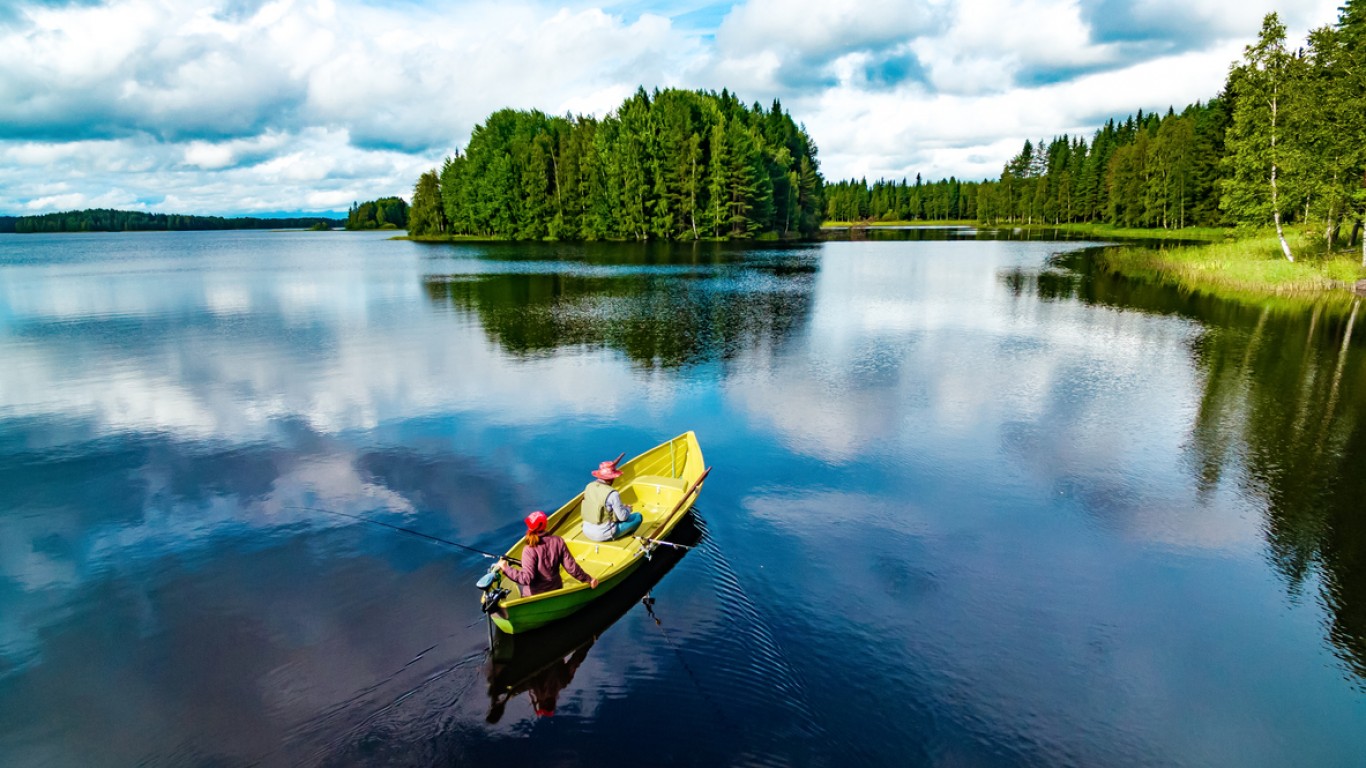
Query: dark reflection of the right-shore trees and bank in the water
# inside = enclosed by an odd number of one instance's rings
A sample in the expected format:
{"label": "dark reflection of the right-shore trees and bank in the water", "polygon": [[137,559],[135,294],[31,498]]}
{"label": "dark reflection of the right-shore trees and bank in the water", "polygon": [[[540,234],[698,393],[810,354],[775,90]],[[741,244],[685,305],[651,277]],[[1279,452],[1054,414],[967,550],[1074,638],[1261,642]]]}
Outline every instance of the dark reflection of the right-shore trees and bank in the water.
{"label": "dark reflection of the right-shore trees and bank in the water", "polygon": [[1108,275],[1085,251],[1000,279],[1022,299],[1071,299],[1201,324],[1191,358],[1202,396],[1188,466],[1202,497],[1221,482],[1257,499],[1268,551],[1292,594],[1315,590],[1328,638],[1366,679],[1366,310],[1239,302]]}

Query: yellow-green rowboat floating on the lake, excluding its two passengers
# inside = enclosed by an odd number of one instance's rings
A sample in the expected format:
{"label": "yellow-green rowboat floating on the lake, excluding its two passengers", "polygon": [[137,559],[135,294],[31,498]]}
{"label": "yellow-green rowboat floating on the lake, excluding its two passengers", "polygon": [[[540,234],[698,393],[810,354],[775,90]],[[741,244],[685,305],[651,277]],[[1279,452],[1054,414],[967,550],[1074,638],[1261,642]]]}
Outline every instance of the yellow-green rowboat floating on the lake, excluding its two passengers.
{"label": "yellow-green rowboat floating on the lake, excluding its two passengers", "polygon": [[[703,469],[702,448],[693,432],[661,443],[617,469],[622,477],[612,486],[622,493],[622,502],[645,518],[634,536],[616,541],[585,538],[579,508],[583,502],[582,491],[546,522],[546,533],[563,538],[574,559],[598,579],[597,589],[561,570],[563,588],[522,597],[512,579],[500,573],[489,574],[479,582],[479,588],[484,589],[484,609],[494,626],[507,634],[533,630],[574,614],[626,581],[650,552],[667,545],[663,540],[693,508],[702,481],[710,471]],[[507,558],[520,562],[523,547],[526,538],[518,540],[508,549]]]}

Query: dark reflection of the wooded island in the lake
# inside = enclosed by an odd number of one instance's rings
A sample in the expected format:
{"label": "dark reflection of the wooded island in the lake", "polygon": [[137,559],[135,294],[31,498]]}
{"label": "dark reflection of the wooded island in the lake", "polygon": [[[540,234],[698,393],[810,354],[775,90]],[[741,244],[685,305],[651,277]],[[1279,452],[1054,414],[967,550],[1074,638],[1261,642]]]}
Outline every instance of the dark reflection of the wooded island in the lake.
{"label": "dark reflection of the wooded island in the lake", "polygon": [[[612,264],[596,262],[596,250],[571,250],[572,271],[510,265],[494,273],[429,275],[423,288],[433,302],[477,314],[485,333],[515,355],[608,347],[647,369],[776,348],[810,317],[817,251],[724,250],[702,258],[688,249],[613,245],[602,251],[617,257]],[[545,256],[556,254],[566,256]],[[622,254],[638,258],[622,264]],[[744,302],[735,301],[736,291]]]}

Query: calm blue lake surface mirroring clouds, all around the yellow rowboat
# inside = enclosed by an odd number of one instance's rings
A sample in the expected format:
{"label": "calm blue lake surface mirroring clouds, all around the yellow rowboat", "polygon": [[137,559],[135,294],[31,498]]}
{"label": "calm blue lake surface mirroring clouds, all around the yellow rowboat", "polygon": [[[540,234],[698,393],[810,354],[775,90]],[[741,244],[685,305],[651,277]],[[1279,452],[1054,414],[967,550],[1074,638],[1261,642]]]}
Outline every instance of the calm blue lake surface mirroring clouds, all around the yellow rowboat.
{"label": "calm blue lake surface mirroring clouds, all around the yellow rowboat", "polygon": [[[1087,247],[0,235],[0,765],[1359,764],[1366,312]],[[324,511],[501,552],[688,429],[695,549],[492,653]]]}

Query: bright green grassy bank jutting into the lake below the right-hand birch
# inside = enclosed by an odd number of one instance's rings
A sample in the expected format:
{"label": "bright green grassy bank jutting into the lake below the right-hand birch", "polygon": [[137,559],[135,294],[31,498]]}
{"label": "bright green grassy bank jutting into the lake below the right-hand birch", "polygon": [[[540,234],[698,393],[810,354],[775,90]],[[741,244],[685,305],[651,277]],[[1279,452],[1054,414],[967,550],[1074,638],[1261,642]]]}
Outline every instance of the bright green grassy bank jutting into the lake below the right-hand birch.
{"label": "bright green grassy bank jutting into the lake below the right-hand birch", "polygon": [[1106,249],[1105,269],[1128,277],[1157,279],[1186,290],[1229,298],[1346,294],[1366,277],[1356,253],[1322,254],[1291,235],[1298,261],[1281,256],[1276,235],[1255,235],[1199,246]]}

